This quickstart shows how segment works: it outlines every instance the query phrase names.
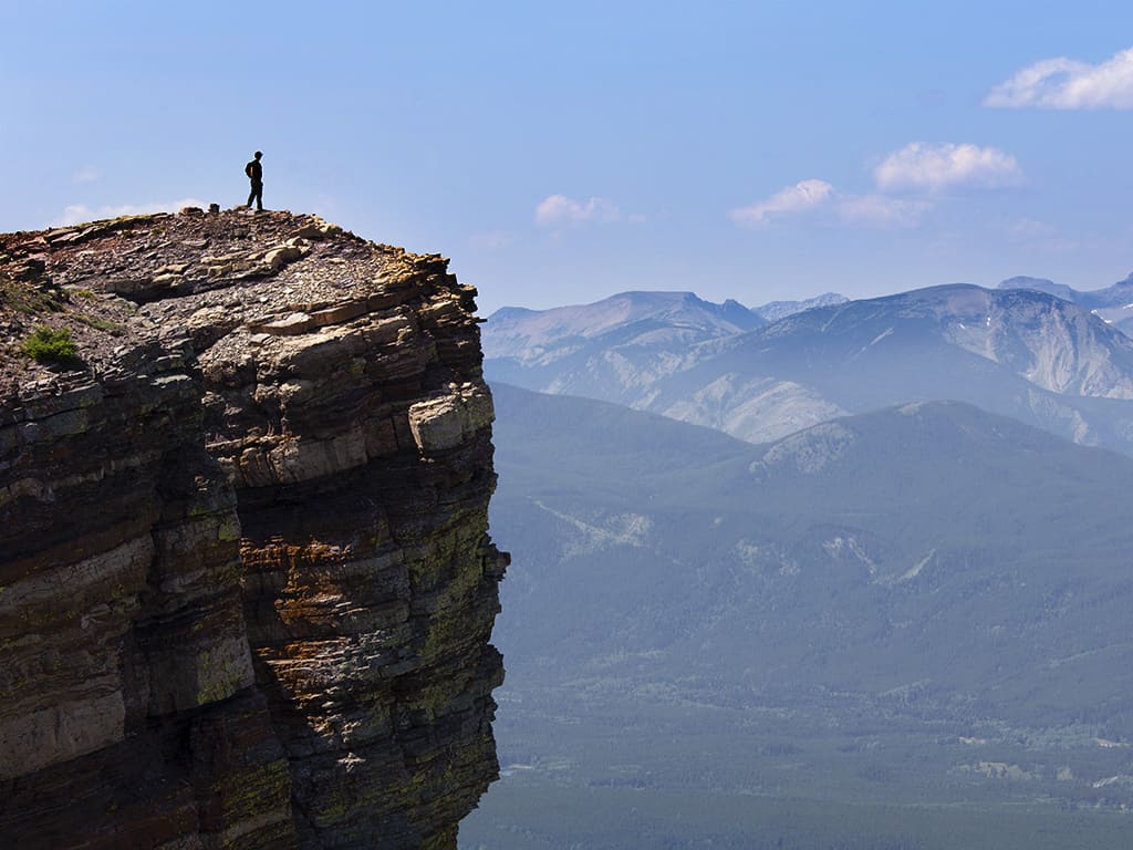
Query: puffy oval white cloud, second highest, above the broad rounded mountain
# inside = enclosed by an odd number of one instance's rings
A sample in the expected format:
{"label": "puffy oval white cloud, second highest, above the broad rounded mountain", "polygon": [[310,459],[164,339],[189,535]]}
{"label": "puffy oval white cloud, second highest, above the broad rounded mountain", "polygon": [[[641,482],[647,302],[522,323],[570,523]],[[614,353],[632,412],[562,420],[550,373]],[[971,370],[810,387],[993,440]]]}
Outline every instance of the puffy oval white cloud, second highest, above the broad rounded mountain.
{"label": "puffy oval white cloud, second highest, above the broad rounded mountain", "polygon": [[953,186],[1004,186],[1023,176],[1011,154],[970,144],[922,145],[891,153],[874,169],[878,188],[938,192]]}

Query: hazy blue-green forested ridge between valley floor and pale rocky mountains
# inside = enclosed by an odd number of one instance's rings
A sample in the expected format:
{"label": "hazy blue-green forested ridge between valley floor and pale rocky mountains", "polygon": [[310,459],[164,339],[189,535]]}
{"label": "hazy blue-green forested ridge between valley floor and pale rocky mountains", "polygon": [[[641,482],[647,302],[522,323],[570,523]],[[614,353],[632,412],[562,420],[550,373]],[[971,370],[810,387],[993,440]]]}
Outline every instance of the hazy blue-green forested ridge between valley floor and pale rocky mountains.
{"label": "hazy blue-green forested ridge between valley floor and pale rocky mountains", "polygon": [[755,447],[587,399],[495,394],[493,528],[525,564],[500,622],[511,687],[553,686],[552,658],[568,678],[695,670],[705,699],[874,699],[928,679],[937,717],[1089,712],[1133,734],[1133,460],[960,402]]}

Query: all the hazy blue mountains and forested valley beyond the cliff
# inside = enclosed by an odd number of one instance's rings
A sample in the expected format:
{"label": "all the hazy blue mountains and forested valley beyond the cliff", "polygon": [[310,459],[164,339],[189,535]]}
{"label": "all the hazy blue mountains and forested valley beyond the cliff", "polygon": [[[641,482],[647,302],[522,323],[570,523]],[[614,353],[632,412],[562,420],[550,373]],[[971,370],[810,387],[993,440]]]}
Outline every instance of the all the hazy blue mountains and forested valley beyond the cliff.
{"label": "all the hazy blue mountains and forested valley beyond the cliff", "polygon": [[488,320],[514,561],[468,847],[1121,843],[1133,341],[1015,282]]}

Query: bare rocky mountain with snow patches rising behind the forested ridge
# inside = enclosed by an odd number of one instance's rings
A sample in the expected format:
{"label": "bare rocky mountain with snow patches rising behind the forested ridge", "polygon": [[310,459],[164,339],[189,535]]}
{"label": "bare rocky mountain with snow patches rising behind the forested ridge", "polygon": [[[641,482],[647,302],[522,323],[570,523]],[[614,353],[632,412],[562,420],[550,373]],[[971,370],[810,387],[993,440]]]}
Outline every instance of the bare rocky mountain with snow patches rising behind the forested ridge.
{"label": "bare rocky mountain with snow patches rising behind the forested ridge", "polygon": [[[1133,451],[1133,342],[1048,294],[955,284],[818,307],[693,345],[486,362],[492,380],[765,442],[849,413],[955,399]],[[495,329],[489,321],[487,350]],[[632,356],[631,356],[632,355]]]}

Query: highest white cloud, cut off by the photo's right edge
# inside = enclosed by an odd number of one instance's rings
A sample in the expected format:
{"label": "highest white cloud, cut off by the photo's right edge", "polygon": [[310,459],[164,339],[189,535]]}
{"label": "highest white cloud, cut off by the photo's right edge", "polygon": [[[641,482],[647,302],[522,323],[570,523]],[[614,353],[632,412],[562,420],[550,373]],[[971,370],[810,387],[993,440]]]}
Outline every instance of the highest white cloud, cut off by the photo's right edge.
{"label": "highest white cloud, cut off by the photo's right edge", "polygon": [[1043,59],[991,90],[985,107],[1023,109],[1133,109],[1133,49],[1101,65]]}

